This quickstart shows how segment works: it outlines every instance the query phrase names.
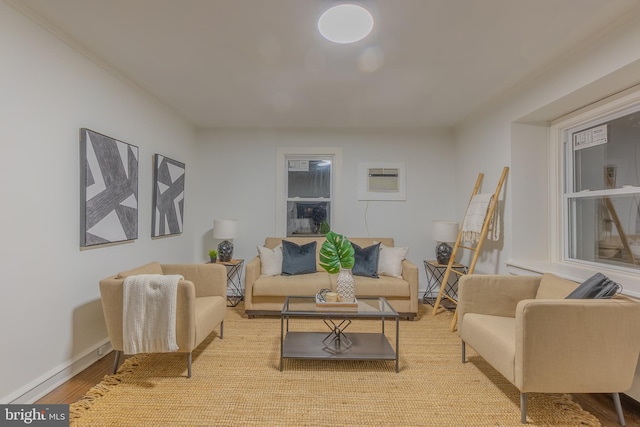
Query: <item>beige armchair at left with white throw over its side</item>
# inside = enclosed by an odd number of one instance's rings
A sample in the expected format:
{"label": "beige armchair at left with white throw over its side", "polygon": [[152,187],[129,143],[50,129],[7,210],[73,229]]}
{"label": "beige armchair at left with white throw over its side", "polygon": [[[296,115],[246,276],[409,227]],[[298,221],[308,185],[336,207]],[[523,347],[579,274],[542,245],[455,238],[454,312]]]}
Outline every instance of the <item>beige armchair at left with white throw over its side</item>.
{"label": "beige armchair at left with white throw over its side", "polygon": [[216,264],[159,264],[152,262],[133,270],[118,273],[100,281],[102,309],[111,345],[116,351],[113,373],[118,369],[123,345],[123,284],[124,278],[137,274],[180,274],[176,300],[176,342],[178,352],[187,353],[187,377],[191,378],[192,351],[220,325],[224,333],[227,306],[227,275]]}

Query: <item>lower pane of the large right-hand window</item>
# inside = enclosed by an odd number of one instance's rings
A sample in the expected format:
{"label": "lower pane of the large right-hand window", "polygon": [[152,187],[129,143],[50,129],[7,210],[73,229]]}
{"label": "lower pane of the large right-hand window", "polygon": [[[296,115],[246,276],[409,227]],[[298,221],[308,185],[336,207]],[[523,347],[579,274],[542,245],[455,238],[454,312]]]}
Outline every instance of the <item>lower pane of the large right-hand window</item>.
{"label": "lower pane of the large right-hand window", "polygon": [[569,200],[569,257],[639,268],[638,194]]}

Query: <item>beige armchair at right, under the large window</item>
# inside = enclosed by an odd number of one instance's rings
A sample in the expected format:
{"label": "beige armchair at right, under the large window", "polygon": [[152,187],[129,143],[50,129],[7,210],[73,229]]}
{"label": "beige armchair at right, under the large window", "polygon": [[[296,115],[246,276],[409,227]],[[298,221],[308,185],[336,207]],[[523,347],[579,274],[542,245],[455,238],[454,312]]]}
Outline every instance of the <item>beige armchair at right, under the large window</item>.
{"label": "beige armchair at right, under the large window", "polygon": [[579,284],[552,274],[469,275],[458,287],[458,334],[521,392],[612,393],[631,387],[640,353],[640,303],[564,299]]}

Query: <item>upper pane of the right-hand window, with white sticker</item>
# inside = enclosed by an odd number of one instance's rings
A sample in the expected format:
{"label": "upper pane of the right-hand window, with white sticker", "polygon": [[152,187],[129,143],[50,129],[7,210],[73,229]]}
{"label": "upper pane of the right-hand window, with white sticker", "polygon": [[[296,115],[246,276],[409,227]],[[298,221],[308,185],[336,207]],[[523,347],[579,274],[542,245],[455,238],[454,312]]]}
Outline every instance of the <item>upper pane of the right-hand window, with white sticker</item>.
{"label": "upper pane of the right-hand window, with white sticker", "polygon": [[574,150],[573,191],[640,186],[640,113],[574,132],[571,142]]}

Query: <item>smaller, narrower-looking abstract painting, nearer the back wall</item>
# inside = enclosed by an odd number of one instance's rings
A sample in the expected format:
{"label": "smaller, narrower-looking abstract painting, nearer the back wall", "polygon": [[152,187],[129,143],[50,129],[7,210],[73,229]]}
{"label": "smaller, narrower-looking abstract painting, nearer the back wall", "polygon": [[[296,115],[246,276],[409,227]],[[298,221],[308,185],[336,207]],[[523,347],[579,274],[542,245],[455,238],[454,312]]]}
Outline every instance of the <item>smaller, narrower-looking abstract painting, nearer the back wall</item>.
{"label": "smaller, narrower-looking abstract painting, nearer the back wall", "polygon": [[182,233],[184,163],[154,154],[152,237]]}

